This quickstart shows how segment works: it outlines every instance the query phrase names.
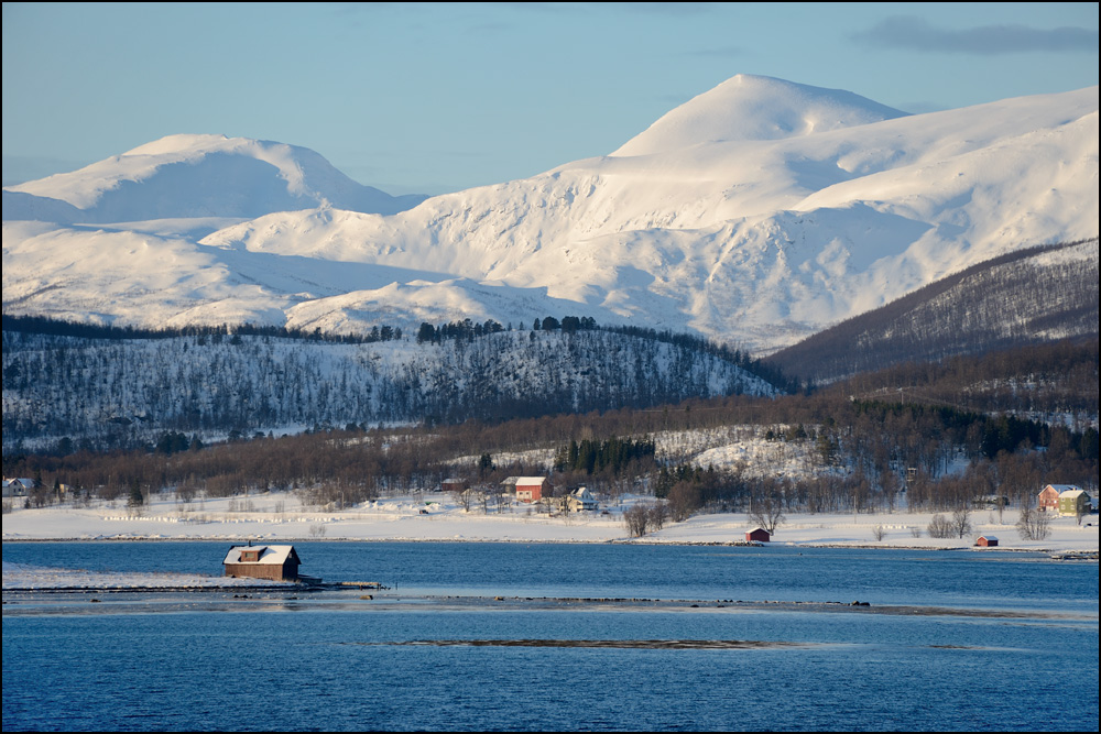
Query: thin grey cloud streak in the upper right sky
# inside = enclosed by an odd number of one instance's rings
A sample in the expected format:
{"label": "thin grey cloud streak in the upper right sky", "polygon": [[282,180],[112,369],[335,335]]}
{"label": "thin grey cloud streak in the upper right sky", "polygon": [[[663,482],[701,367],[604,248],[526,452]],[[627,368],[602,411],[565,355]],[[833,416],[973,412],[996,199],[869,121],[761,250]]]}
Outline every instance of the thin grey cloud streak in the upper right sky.
{"label": "thin grey cloud streak in the upper right sky", "polygon": [[937,28],[913,15],[894,15],[850,39],[862,46],[993,56],[1028,52],[1097,52],[1098,32],[1065,26],[1049,31],[1026,25]]}

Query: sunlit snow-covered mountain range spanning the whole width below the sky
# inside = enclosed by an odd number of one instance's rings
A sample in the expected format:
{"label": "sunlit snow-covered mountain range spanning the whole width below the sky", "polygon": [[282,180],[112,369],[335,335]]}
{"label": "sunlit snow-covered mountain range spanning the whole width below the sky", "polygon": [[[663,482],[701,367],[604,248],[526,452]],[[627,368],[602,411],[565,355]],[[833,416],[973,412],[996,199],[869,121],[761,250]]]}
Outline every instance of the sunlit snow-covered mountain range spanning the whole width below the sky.
{"label": "sunlit snow-covered mountain range spanning the whole width below the sky", "polygon": [[224,145],[279,185],[226,177],[239,207],[204,208],[197,174],[226,160],[208,142],[4,189],[4,311],[359,331],[586,315],[767,352],[992,256],[1098,234],[1097,87],[907,116],[740,75],[610,155],[396,213],[350,206],[302,149],[254,141]]}

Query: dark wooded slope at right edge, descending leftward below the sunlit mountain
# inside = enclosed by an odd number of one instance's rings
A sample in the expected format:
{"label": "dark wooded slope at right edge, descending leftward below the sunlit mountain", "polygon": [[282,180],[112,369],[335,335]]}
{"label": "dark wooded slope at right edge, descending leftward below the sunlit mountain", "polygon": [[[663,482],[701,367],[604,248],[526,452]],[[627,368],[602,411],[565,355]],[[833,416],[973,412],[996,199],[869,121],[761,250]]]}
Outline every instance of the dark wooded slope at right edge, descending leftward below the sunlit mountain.
{"label": "dark wooded slope at right edge, descending leftward below the sunlit mountain", "polygon": [[1010,253],[783,349],[768,361],[811,383],[902,362],[1098,336],[1098,240]]}

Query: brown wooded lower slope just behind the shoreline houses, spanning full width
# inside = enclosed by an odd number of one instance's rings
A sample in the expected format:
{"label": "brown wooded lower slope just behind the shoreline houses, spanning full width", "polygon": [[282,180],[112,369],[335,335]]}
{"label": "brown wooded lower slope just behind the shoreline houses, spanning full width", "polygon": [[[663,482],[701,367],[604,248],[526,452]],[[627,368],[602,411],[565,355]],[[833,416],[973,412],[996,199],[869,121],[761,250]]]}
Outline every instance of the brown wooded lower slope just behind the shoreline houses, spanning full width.
{"label": "brown wooded lower slope just behind the shoreline houses, spanning full width", "polygon": [[[175,492],[184,502],[298,489],[304,502],[325,504],[434,489],[450,476],[499,487],[509,475],[549,474],[557,491],[652,494],[673,518],[751,508],[877,512],[903,502],[914,510],[985,508],[983,497],[994,494],[1024,506],[1049,482],[1097,490],[1097,364],[1095,342],[1061,344],[959,358],[924,372],[884,371],[813,395],[347,426],[205,447],[166,432],[131,451],[6,451],[4,473],[39,479],[36,503],[53,501],[62,483],[80,497]],[[1035,388],[1040,383],[1047,387]],[[999,385],[1006,384],[1033,392],[1037,413],[999,409]],[[977,395],[989,409],[968,402]],[[953,405],[956,396],[963,402]],[[1071,404],[1087,409],[1060,412]]]}

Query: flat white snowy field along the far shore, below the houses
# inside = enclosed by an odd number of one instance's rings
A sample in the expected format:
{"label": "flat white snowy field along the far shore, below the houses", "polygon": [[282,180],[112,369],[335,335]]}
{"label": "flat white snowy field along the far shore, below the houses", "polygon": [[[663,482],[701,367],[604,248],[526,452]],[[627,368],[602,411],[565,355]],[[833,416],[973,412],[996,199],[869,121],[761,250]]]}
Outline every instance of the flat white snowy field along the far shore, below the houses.
{"label": "flat white snowy field along the far shore, below the houses", "polygon": [[[465,508],[450,493],[419,493],[339,508],[303,505],[294,493],[271,492],[217,500],[155,500],[141,514],[122,502],[90,506],[17,508],[3,516],[3,540],[461,540],[511,543],[737,543],[753,523],[744,514],[696,515],[667,522],[661,530],[631,538],[623,511],[652,497],[599,497],[600,510],[548,516],[513,503],[499,511],[475,503]],[[1098,551],[1098,517],[1078,525],[1056,517],[1045,540],[1022,540],[1017,513],[979,510],[963,538],[930,538],[933,513],[905,510],[877,514],[789,514],[773,543],[807,546],[972,548],[980,535],[994,535],[1001,548],[1051,552]],[[882,528],[882,539],[876,539]]]}

